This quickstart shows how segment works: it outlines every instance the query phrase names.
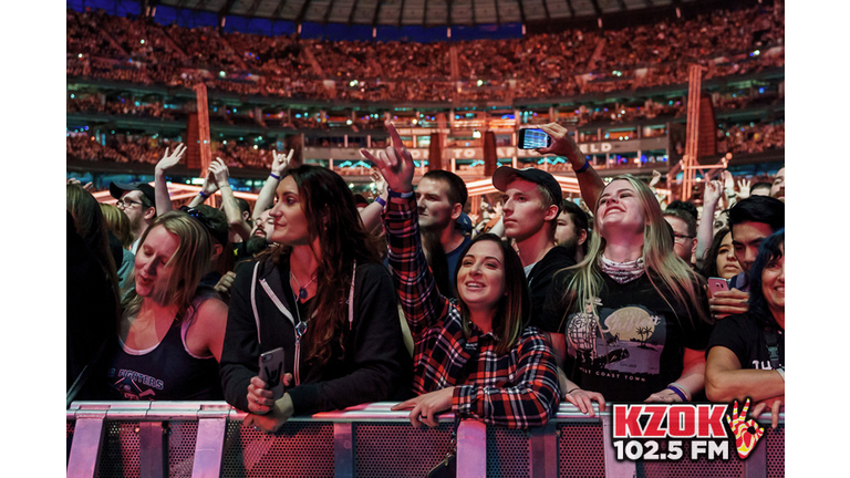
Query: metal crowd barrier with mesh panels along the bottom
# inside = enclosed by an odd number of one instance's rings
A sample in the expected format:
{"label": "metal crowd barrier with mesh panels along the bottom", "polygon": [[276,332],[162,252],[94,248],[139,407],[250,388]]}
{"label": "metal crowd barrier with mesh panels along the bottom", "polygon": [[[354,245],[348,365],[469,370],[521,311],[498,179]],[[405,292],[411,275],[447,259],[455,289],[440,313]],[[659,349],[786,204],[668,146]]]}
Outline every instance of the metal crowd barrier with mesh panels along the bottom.
{"label": "metal crowd barrier with mesh panels along the bottom", "polygon": [[[413,427],[393,403],[292,417],[270,435],[224,402],[75,402],[66,412],[68,477],[423,477],[449,450],[454,416]],[[609,408],[610,411],[610,408]],[[458,477],[785,476],[785,417],[746,460],[616,460],[611,414],[562,404],[529,430],[462,420]]]}

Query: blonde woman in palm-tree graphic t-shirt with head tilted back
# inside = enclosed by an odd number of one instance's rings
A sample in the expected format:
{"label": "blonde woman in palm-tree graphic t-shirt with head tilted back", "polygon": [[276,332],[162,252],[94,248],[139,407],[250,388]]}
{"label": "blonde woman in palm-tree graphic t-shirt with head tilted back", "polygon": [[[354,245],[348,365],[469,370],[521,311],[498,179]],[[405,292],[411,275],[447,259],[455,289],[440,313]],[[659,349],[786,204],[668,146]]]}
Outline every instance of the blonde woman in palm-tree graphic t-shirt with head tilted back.
{"label": "blonde woman in palm-tree graphic t-shirt with head tilted back", "polygon": [[685,402],[704,386],[711,334],[703,279],[673,252],[652,190],[631,175],[594,208],[587,258],[556,276],[541,328],[563,358],[566,399]]}

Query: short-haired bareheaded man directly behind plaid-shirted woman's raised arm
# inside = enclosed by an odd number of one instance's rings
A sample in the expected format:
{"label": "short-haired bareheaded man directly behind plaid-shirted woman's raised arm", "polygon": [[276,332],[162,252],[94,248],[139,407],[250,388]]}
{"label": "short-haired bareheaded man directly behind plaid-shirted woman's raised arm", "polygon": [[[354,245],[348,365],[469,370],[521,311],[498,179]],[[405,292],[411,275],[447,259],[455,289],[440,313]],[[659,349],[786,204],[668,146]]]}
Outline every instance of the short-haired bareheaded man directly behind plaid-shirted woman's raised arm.
{"label": "short-haired bareheaded man directly behind plaid-shirted woman's raised arm", "polygon": [[[463,214],[464,205],[466,204],[467,191],[466,184],[456,174],[445,170],[429,170],[416,185],[416,205],[418,207],[419,228],[424,237],[428,240],[424,241],[429,246],[426,249],[434,249],[437,243],[442,247],[443,253],[431,253],[432,256],[432,270],[435,276],[439,273],[443,264],[434,264],[433,259],[439,260],[439,257],[445,254],[446,273],[448,277],[437,278],[437,283],[440,283],[440,279],[445,279],[450,297],[455,297],[454,272],[457,267],[458,260],[460,260],[460,252],[464,251],[466,245],[471,239],[464,235],[460,224],[457,222],[458,218]],[[468,218],[467,218],[468,220]],[[426,254],[428,251],[426,250]],[[440,289],[444,295],[448,295]]]}

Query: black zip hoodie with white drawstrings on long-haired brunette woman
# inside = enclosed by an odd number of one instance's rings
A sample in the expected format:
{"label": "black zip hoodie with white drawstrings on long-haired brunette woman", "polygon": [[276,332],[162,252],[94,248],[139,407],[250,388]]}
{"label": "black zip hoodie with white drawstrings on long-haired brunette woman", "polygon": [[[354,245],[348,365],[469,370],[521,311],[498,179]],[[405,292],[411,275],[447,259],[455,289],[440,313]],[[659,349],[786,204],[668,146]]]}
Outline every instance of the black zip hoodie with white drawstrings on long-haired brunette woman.
{"label": "black zip hoodie with white drawstrings on long-haired brunette woman", "polygon": [[[282,346],[287,351],[283,372],[294,374],[296,366],[298,315],[284,279],[289,277],[289,260],[283,259],[280,266],[266,260],[256,268],[249,263],[237,271],[220,362],[225,398],[242,411],[248,409],[248,384],[258,375],[261,353]],[[398,401],[410,394],[413,364],[402,339],[396,303],[395,288],[383,266],[357,264],[353,321],[351,330],[343,329],[344,352],[334,347],[330,362],[313,367],[307,362],[310,344],[301,343],[301,383],[287,391],[296,414]],[[255,320],[255,305],[259,320]]]}

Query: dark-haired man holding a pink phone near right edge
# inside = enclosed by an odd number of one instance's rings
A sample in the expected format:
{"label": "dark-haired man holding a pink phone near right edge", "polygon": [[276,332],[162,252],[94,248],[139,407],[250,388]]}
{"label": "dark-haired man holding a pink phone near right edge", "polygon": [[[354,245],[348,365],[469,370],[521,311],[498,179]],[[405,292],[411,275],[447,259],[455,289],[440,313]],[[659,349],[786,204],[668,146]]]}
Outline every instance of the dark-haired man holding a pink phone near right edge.
{"label": "dark-haired man holding a pink phone near right edge", "polygon": [[732,246],[744,272],[730,280],[729,290],[714,292],[708,300],[712,314],[723,318],[749,309],[749,269],[765,238],[785,227],[785,204],[767,196],[742,199],[729,210]]}

